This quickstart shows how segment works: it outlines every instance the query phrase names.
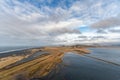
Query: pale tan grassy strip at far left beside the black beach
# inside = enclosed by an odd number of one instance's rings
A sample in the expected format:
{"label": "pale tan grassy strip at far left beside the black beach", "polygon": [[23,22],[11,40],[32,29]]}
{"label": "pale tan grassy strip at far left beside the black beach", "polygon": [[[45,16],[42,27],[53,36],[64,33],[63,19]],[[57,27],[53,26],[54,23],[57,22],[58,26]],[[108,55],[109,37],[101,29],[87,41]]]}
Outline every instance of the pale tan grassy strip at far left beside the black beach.
{"label": "pale tan grassy strip at far left beside the black beach", "polygon": [[[19,51],[19,52],[21,52],[21,55],[20,54],[18,55],[17,53],[15,53],[15,54],[12,54],[10,56],[1,57],[0,58],[0,69],[4,68],[4,67],[6,67],[6,66],[8,66],[10,64],[13,64],[13,63],[15,63],[17,61],[20,61],[20,60],[22,60],[24,58],[27,58],[28,56],[38,52],[39,50],[40,49],[29,49],[29,50],[25,50],[25,51]],[[28,54],[26,54],[26,53],[28,53]]]}

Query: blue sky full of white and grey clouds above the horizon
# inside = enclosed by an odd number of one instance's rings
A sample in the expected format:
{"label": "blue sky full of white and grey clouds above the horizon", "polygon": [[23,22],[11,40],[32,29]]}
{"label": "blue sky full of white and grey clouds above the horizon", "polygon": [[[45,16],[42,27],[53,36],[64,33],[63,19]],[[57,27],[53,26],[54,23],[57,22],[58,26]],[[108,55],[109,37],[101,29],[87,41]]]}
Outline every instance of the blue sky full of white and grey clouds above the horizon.
{"label": "blue sky full of white and grey clouds above the horizon", "polygon": [[0,46],[120,44],[120,0],[0,0]]}

